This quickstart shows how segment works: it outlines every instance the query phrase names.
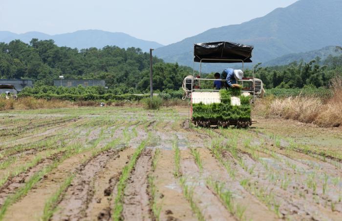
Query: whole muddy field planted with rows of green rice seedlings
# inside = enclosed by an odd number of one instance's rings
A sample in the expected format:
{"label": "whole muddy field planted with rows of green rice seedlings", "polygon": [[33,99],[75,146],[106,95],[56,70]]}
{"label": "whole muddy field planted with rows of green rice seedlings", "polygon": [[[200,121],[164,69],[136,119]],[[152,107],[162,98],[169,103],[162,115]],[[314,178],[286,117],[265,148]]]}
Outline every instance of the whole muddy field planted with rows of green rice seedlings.
{"label": "whole muddy field planted with rows of green rice seedlings", "polygon": [[188,108],[0,113],[0,220],[342,220],[342,130]]}

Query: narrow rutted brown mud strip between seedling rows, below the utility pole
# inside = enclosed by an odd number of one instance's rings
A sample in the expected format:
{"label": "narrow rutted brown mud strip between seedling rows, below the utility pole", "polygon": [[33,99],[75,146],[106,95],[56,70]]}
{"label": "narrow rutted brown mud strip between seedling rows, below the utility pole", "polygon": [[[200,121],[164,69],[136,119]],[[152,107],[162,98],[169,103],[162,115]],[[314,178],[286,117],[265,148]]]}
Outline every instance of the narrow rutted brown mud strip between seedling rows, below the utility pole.
{"label": "narrow rutted brown mud strip between seedling rows, below the utility pole", "polygon": [[152,150],[144,149],[132,171],[124,196],[124,220],[151,220],[148,194]]}

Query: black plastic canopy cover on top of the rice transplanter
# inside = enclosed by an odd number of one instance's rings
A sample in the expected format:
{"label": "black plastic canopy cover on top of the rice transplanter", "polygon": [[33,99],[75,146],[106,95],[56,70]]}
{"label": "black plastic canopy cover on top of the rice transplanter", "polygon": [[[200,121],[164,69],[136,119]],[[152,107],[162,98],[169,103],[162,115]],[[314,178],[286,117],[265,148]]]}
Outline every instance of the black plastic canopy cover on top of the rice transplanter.
{"label": "black plastic canopy cover on top of the rice transplanter", "polygon": [[[194,44],[194,61],[203,63],[238,63],[252,62],[253,46],[226,41]],[[230,60],[221,60],[230,59]]]}

